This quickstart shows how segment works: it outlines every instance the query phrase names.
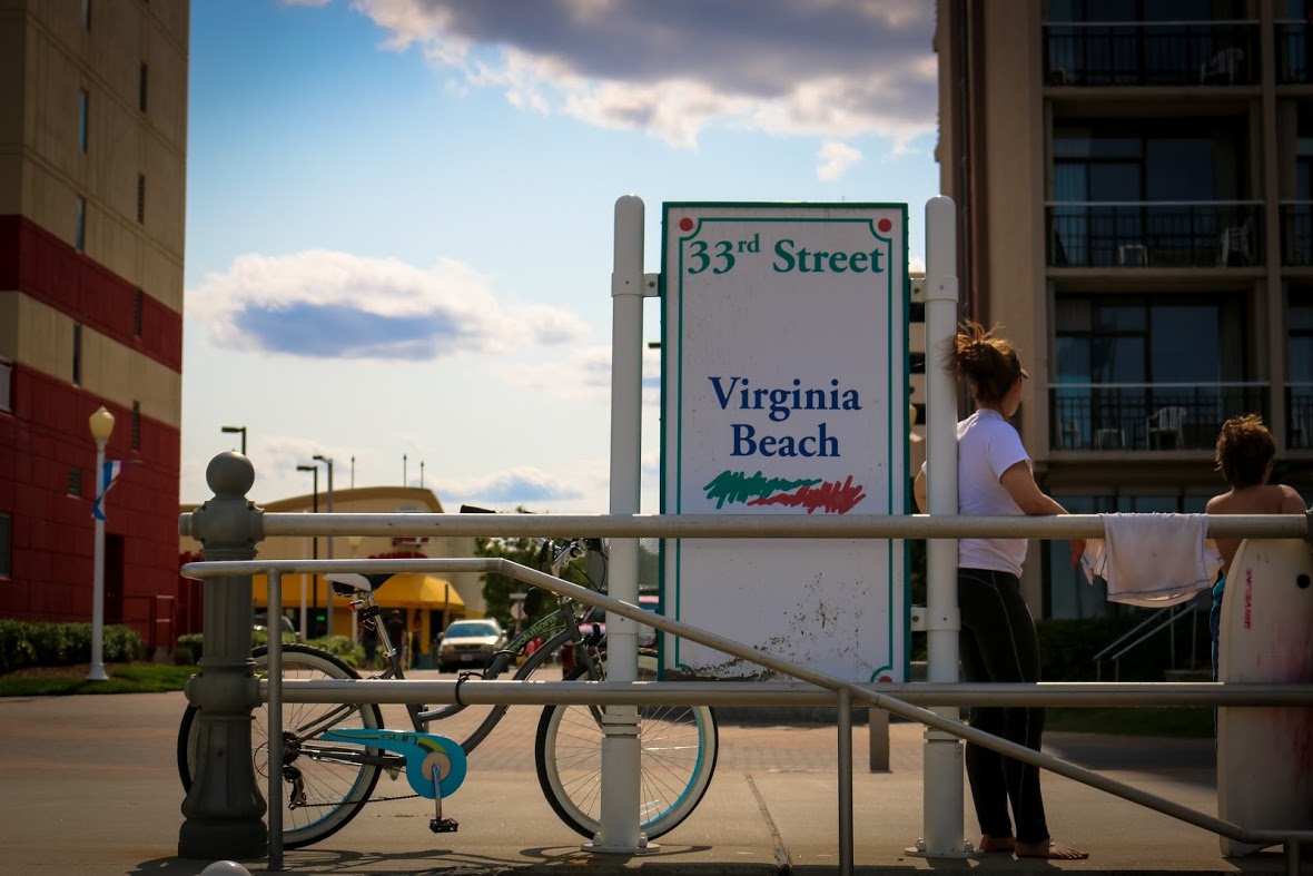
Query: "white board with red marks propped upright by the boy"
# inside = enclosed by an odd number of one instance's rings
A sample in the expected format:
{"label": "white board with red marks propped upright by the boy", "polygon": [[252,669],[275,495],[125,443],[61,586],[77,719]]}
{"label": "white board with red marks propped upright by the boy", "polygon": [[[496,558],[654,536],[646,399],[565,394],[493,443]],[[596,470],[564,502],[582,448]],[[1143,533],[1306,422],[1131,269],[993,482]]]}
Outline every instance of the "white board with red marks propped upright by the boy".
{"label": "white board with red marks propped upright by the boy", "polygon": [[[1313,552],[1241,542],[1222,594],[1222,682],[1313,682]],[[1313,707],[1217,711],[1217,816],[1250,830],[1313,829]],[[1266,846],[1220,838],[1228,858]]]}

